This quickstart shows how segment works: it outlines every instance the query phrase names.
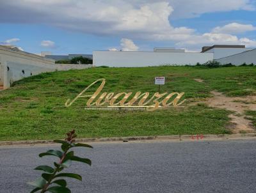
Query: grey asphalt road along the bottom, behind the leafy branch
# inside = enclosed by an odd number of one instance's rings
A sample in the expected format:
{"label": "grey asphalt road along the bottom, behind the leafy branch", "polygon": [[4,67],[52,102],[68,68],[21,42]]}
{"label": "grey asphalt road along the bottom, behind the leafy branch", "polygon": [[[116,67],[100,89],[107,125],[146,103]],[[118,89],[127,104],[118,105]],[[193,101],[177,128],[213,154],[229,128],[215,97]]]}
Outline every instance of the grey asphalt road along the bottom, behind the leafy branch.
{"label": "grey asphalt road along the bottom, behind the leafy branch", "polygon": [[[92,145],[77,148],[93,165],[74,162],[83,181],[68,180],[72,192],[256,192],[255,139]],[[33,168],[54,160],[38,153],[54,148],[0,148],[0,192],[29,192]]]}

